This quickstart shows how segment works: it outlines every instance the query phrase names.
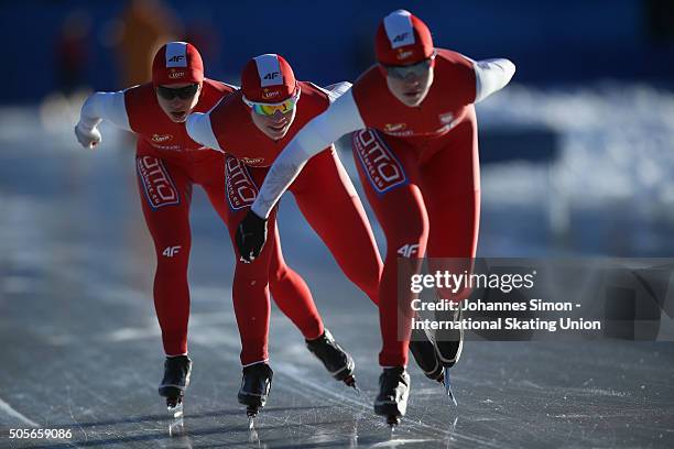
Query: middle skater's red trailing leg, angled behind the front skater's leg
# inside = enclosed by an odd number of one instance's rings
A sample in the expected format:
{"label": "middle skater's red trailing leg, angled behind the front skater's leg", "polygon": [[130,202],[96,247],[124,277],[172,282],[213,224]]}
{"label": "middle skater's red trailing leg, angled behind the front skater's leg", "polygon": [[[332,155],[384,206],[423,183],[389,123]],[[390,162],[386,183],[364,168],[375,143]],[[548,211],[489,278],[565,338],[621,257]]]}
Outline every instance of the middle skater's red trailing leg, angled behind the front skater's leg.
{"label": "middle skater's red trailing leg, angled behind the front skater's leg", "polygon": [[312,157],[291,191],[341,271],[377,304],[381,256],[365,208],[335,150]]}

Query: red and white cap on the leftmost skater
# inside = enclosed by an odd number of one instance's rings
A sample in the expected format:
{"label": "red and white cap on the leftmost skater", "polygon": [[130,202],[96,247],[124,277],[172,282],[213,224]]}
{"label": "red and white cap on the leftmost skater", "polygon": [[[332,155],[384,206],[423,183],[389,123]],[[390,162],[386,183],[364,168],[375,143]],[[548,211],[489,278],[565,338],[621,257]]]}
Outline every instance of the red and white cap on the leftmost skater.
{"label": "red and white cap on the leftmost skater", "polygon": [[168,42],[152,62],[152,84],[203,83],[204,62],[196,47],[187,42]]}

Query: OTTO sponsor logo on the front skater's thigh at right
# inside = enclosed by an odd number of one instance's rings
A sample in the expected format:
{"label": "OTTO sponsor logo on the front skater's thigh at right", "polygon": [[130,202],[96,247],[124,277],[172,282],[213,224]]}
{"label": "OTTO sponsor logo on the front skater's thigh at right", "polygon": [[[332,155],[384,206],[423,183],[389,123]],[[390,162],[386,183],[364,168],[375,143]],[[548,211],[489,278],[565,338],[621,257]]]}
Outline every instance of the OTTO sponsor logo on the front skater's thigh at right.
{"label": "OTTO sponsor logo on the front skater's thigh at right", "polygon": [[354,147],[370,184],[380,194],[406,182],[402,165],[376,132],[362,130],[354,134]]}

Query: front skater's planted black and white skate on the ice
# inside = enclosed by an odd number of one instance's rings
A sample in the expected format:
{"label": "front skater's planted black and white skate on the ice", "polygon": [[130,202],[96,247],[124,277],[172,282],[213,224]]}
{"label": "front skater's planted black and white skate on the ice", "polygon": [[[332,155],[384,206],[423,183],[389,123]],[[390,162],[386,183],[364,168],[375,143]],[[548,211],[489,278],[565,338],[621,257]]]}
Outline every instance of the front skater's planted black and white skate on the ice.
{"label": "front skater's planted black and white skate on the ice", "polygon": [[387,424],[394,428],[407,409],[410,374],[403,366],[384,368],[379,376],[379,395],[374,399],[374,413],[385,416]]}

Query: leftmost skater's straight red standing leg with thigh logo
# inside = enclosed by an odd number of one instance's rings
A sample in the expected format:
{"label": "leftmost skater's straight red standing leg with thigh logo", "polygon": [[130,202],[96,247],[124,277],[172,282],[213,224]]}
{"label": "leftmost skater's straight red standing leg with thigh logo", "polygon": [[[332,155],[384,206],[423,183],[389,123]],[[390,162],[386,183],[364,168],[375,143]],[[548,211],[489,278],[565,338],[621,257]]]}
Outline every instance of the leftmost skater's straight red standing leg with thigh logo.
{"label": "leftmost skater's straight red standing leg with thigh logo", "polygon": [[192,183],[180,167],[160,158],[138,155],[135,162],[143,216],[156,253],[154,307],[164,351],[166,355],[186,354]]}

